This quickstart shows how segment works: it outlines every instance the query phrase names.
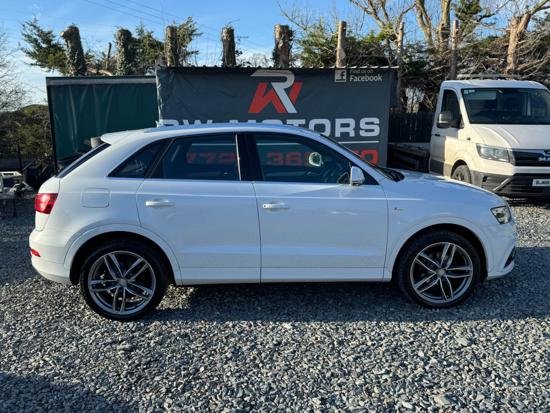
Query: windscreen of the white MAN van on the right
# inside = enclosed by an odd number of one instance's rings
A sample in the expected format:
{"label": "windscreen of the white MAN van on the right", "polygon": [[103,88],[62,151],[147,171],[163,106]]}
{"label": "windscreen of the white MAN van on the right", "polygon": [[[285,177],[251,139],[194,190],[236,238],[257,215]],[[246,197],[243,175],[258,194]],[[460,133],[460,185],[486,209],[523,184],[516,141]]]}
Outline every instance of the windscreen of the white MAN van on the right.
{"label": "windscreen of the white MAN van on the right", "polygon": [[550,124],[550,93],[546,89],[463,89],[470,123]]}

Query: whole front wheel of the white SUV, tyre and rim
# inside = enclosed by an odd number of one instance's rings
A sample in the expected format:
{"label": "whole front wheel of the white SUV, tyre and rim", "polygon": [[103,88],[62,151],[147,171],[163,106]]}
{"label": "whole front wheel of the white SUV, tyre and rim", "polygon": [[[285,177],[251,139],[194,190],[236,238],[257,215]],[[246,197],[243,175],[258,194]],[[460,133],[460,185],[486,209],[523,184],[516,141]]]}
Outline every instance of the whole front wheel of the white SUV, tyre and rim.
{"label": "whole front wheel of the white SUV, tyre and rim", "polygon": [[422,233],[409,242],[397,262],[401,291],[423,307],[454,307],[480,280],[477,253],[460,235],[445,230]]}

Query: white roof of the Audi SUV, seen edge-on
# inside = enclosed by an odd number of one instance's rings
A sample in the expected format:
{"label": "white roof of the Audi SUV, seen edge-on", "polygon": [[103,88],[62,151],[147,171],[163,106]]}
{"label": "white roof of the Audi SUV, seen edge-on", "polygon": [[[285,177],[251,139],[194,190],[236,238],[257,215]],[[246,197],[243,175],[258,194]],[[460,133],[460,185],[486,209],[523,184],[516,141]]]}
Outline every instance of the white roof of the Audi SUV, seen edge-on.
{"label": "white roof of the Audi SUV, seen edge-on", "polygon": [[[219,132],[287,132],[310,134],[313,137],[319,137],[320,133],[311,131],[311,129],[301,128],[292,125],[272,124],[272,123],[202,123],[194,125],[179,125],[179,126],[158,126],[156,128],[138,129],[136,131],[125,131],[116,133],[106,133],[101,136],[103,142],[114,144],[127,137],[130,139],[157,139],[169,138],[174,136],[193,135],[196,133],[219,133]],[[174,133],[176,132],[176,133]]]}

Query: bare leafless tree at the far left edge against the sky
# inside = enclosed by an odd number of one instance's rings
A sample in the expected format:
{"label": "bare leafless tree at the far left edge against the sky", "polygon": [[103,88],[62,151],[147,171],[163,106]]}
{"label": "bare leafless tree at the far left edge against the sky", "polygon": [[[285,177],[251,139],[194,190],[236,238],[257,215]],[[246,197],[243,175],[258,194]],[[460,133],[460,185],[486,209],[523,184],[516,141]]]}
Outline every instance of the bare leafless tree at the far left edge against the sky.
{"label": "bare leafless tree at the far left edge against the sky", "polygon": [[7,30],[0,27],[0,115],[19,109],[27,100],[28,85],[20,80]]}

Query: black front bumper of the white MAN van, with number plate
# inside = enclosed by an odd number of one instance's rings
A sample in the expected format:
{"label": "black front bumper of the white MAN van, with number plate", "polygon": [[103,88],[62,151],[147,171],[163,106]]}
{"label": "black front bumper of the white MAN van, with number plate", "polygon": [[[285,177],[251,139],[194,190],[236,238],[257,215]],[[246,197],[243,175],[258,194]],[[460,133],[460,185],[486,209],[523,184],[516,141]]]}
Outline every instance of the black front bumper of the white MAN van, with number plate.
{"label": "black front bumper of the white MAN van, with number plate", "polygon": [[533,187],[535,179],[550,179],[550,173],[515,173],[497,175],[496,173],[471,171],[472,182],[487,191],[504,197],[550,197],[550,187]]}

